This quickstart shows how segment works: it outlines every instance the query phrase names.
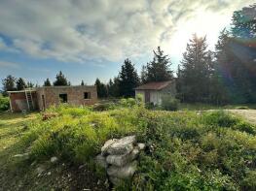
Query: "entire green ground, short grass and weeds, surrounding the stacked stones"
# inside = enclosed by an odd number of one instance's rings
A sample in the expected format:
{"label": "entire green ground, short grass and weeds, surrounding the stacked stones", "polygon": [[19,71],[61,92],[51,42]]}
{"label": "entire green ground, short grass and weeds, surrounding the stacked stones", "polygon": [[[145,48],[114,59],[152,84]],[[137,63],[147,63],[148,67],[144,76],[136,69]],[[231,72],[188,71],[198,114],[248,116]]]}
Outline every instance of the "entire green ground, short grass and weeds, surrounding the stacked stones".
{"label": "entire green ground, short grass and weeds, surrounding the stacked stones", "polygon": [[0,190],[106,190],[93,158],[105,141],[127,135],[147,146],[137,173],[116,190],[256,189],[254,125],[226,111],[148,111],[123,102],[106,111],[2,113]]}

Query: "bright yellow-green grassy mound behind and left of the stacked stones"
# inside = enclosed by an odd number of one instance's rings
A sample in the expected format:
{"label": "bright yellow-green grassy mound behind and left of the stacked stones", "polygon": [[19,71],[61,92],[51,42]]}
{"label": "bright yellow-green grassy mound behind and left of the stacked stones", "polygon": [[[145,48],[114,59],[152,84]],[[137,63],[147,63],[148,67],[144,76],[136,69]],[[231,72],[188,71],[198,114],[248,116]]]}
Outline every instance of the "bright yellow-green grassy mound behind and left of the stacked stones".
{"label": "bright yellow-green grassy mound behind and left of the stacked stones", "polygon": [[74,162],[89,161],[108,139],[138,134],[143,129],[145,125],[138,121],[140,110],[134,108],[135,103],[134,99],[128,99],[129,109],[123,109],[122,113],[94,112],[67,105],[52,107],[46,112],[56,113],[56,116],[47,120],[39,117],[31,123],[24,143],[32,143],[34,158],[59,155]]}

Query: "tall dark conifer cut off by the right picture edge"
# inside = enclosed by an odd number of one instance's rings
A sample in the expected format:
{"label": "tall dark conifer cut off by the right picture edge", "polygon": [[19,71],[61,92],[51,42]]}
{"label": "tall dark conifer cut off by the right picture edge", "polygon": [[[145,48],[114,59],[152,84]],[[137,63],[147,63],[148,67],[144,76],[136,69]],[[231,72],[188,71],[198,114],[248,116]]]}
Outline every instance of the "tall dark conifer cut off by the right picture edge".
{"label": "tall dark conifer cut off by the right picture edge", "polygon": [[234,88],[239,93],[237,102],[256,103],[256,4],[244,7],[234,13],[232,37],[229,47],[232,48],[231,78]]}

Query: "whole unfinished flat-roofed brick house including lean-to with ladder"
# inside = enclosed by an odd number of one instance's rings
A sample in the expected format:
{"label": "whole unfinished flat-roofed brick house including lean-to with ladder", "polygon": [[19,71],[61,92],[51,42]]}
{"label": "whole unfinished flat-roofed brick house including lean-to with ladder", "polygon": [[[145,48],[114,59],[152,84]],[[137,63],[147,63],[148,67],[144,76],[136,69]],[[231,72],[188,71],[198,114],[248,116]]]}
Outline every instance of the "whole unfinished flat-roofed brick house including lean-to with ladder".
{"label": "whole unfinished flat-roofed brick house including lean-to with ladder", "polygon": [[44,86],[8,93],[11,111],[44,111],[61,103],[86,106],[97,102],[97,89],[94,85]]}

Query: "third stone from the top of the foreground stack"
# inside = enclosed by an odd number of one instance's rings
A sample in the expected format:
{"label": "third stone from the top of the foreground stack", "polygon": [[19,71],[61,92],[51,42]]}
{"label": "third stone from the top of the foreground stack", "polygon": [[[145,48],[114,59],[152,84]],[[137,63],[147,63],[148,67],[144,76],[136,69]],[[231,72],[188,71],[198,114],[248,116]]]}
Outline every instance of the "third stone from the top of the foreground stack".
{"label": "third stone from the top of the foreground stack", "polygon": [[124,179],[134,175],[136,169],[137,162],[133,161],[132,163],[128,163],[124,167],[110,166],[107,169],[107,175]]}

